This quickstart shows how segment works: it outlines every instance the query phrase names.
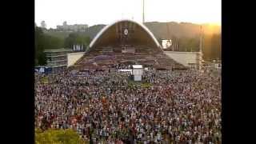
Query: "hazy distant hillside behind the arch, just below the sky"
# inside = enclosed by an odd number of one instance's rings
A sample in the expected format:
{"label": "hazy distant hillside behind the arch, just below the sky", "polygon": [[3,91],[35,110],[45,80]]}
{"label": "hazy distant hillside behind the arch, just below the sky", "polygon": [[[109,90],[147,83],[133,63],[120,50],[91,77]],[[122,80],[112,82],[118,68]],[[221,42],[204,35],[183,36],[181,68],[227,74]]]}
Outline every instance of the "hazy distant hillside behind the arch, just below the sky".
{"label": "hazy distant hillside behind the arch, just below the sky", "polygon": [[[156,38],[170,39],[175,36],[177,38],[194,38],[198,37],[200,32],[200,25],[188,23],[188,22],[146,22],[146,27],[154,34]],[[106,25],[94,25],[86,29],[86,32],[80,32],[79,34],[90,36],[94,38],[96,34]],[[168,30],[169,27],[169,30]],[[203,25],[205,34],[220,34],[221,26],[210,26]],[[169,34],[168,34],[169,31]],[[70,32],[59,32],[59,31],[47,31],[46,34],[56,36],[58,38],[66,38]]]}

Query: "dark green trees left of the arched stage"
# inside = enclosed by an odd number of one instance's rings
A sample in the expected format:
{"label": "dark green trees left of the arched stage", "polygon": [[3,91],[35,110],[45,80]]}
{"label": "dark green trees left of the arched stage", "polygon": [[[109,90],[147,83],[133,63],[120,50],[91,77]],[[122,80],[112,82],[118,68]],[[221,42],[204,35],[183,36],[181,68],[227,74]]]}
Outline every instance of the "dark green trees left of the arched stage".
{"label": "dark green trees left of the arched stage", "polygon": [[90,37],[70,33],[66,38],[60,38],[44,33],[42,28],[35,26],[35,66],[43,66],[46,64],[46,55],[43,53],[46,49],[69,48],[73,45],[83,45],[86,47],[90,43]]}

